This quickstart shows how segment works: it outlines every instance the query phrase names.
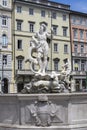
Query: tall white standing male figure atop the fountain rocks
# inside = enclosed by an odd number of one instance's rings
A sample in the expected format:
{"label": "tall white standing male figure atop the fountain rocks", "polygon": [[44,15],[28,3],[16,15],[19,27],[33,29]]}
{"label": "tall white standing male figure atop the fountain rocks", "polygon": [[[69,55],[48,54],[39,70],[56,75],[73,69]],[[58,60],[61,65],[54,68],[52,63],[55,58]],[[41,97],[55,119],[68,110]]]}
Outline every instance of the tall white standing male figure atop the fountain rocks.
{"label": "tall white standing male figure atop the fountain rocks", "polygon": [[[48,50],[49,46],[47,43],[47,38],[51,39],[52,35],[47,32],[46,25],[41,24],[39,32],[37,32],[32,37],[33,45],[31,45],[33,48],[36,49],[37,52],[37,59],[34,63],[39,64],[39,71],[38,73],[45,74],[46,67],[47,67],[47,57],[48,57]],[[42,60],[43,57],[43,60]]]}

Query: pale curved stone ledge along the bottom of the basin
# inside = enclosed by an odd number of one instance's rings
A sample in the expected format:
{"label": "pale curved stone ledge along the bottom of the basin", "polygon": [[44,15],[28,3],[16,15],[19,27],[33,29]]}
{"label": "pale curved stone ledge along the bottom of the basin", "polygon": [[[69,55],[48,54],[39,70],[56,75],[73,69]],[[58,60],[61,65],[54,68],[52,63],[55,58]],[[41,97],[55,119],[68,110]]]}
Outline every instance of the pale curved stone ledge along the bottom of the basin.
{"label": "pale curved stone ledge along the bottom of the basin", "polygon": [[0,130],[87,130],[87,125],[65,125],[65,126],[51,126],[51,127],[32,127],[23,125],[6,125],[0,124]]}

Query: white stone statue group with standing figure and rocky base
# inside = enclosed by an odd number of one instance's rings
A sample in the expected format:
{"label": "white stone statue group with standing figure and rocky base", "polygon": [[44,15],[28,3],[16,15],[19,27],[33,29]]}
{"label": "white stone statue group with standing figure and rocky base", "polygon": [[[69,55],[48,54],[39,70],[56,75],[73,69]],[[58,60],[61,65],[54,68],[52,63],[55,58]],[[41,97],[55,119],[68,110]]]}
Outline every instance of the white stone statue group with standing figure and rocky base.
{"label": "white stone statue group with standing figure and rocky base", "polygon": [[[51,30],[52,31],[52,30]],[[47,57],[49,46],[47,43],[47,38],[51,39],[53,36],[53,31],[47,32],[47,26],[45,24],[40,25],[39,32],[37,32],[30,42],[29,50],[29,61],[32,72],[34,72],[34,77],[32,81],[25,84],[24,90],[27,93],[52,93],[52,92],[69,92],[70,88],[70,73],[71,64],[69,59],[62,66],[63,70],[61,73],[51,72],[48,74],[46,72],[47,67]],[[37,57],[33,58],[32,53],[36,52]],[[43,57],[43,60],[42,60]],[[39,70],[35,71],[33,65],[39,65]]]}

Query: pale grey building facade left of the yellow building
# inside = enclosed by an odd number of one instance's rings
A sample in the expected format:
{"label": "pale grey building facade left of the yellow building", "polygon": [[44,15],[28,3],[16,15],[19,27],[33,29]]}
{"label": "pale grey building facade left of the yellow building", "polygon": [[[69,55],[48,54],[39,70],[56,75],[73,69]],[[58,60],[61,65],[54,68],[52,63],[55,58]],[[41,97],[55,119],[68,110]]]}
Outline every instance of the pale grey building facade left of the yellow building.
{"label": "pale grey building facade left of the yellow building", "polygon": [[12,1],[0,0],[0,92],[12,88]]}

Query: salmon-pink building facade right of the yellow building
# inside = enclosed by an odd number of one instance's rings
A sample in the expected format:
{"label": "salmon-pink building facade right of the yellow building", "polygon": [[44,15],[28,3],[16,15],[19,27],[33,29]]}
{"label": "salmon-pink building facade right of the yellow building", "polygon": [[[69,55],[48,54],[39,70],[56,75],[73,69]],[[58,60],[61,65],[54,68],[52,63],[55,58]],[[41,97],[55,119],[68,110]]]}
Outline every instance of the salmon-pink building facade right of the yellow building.
{"label": "salmon-pink building facade right of the yellow building", "polygon": [[71,11],[72,74],[76,91],[87,86],[87,14]]}

